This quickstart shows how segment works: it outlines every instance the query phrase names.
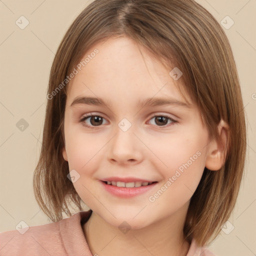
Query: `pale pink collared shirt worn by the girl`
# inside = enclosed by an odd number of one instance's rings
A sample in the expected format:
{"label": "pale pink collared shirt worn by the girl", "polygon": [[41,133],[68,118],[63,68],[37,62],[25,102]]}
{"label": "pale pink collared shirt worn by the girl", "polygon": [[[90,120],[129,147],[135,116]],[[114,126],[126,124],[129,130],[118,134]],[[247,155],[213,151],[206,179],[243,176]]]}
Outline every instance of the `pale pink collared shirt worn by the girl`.
{"label": "pale pink collared shirt worn by the girl", "polygon": [[[23,234],[20,232],[25,228],[1,232],[0,256],[92,256],[81,225],[90,213],[90,210],[80,211],[56,222],[29,226]],[[215,255],[205,247],[197,247],[192,240],[187,256]]]}

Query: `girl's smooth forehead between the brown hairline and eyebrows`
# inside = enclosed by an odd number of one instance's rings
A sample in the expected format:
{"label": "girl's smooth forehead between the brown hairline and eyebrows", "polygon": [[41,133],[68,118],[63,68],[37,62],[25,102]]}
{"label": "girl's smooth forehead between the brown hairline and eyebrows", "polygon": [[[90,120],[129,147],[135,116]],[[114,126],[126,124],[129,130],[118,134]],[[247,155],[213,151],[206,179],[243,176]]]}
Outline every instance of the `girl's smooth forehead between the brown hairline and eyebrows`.
{"label": "girl's smooth forehead between the brown hairline and eyebrows", "polygon": [[[95,52],[96,54],[92,54]],[[85,58],[88,62],[84,64]],[[180,81],[144,47],[129,37],[108,38],[90,47],[83,55],[80,70],[68,86],[68,101],[78,95],[128,98],[171,96],[183,99],[177,89]],[[181,79],[180,79],[181,80]],[[183,99],[184,100],[184,99]],[[186,100],[189,102],[188,95]],[[191,102],[190,102],[191,103]]]}

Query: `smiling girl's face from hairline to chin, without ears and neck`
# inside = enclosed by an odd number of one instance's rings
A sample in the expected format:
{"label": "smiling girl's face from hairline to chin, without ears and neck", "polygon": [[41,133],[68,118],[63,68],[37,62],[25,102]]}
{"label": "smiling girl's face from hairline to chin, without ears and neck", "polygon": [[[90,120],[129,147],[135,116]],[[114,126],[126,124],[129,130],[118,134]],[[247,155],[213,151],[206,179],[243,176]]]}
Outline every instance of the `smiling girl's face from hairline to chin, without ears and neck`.
{"label": "smiling girl's face from hairline to chin, without ears and neck", "polygon": [[[171,69],[131,39],[101,44],[84,54],[98,49],[67,91],[63,157],[73,185],[113,226],[125,220],[136,229],[185,213],[208,153],[199,111],[188,95],[185,103]],[[152,103],[159,98],[170,101]]]}

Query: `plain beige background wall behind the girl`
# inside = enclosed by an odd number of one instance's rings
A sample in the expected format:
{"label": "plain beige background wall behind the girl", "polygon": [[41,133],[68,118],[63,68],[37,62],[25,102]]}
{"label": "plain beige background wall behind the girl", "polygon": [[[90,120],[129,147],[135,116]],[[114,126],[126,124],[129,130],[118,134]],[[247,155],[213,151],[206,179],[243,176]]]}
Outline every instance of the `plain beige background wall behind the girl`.
{"label": "plain beige background wall behind the girl", "polygon": [[[29,226],[47,223],[34,199],[32,174],[41,146],[48,75],[62,36],[88,2],[0,0],[0,232],[15,229],[21,220]],[[209,249],[219,256],[252,256],[256,254],[256,0],[197,2],[219,22],[227,15],[234,21],[224,30],[237,63],[248,121],[245,176],[229,218],[234,229],[226,234],[227,226]],[[24,29],[15,24],[21,15],[29,21]],[[16,126],[21,118],[28,123],[23,131]]]}

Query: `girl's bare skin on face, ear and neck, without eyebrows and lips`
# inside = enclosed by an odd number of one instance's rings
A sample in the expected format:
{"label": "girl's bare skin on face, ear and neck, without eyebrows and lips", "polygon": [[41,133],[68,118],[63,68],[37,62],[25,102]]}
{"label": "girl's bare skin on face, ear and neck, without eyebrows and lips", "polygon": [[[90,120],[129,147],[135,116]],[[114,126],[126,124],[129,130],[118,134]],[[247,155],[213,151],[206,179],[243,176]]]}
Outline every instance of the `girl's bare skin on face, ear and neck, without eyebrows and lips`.
{"label": "girl's bare skin on face, ear and neck, without eyebrows and lips", "polygon": [[[69,170],[80,177],[73,183],[77,193],[92,210],[82,226],[92,255],[186,255],[189,243],[182,229],[190,198],[203,169],[218,170],[224,162],[221,148],[210,139],[197,107],[181,105],[136,106],[151,97],[168,97],[184,102],[169,71],[141,46],[128,37],[109,38],[93,45],[99,52],[71,80],[64,115],[65,148],[62,154]],[[142,55],[141,55],[142,53]],[[176,83],[176,84],[175,84]],[[165,85],[165,86],[164,86]],[[77,96],[100,97],[109,106],[76,104]],[[79,120],[87,113],[100,115],[100,125],[93,118]],[[157,122],[153,115],[170,116]],[[127,131],[118,127],[126,118]],[[94,125],[94,126],[93,126]],[[225,124],[221,121],[219,132]],[[196,152],[200,156],[155,199],[149,201],[169,177]],[[101,184],[105,177],[133,176],[158,181],[154,189],[131,198],[109,194]],[[122,233],[118,226],[130,226]]]}

